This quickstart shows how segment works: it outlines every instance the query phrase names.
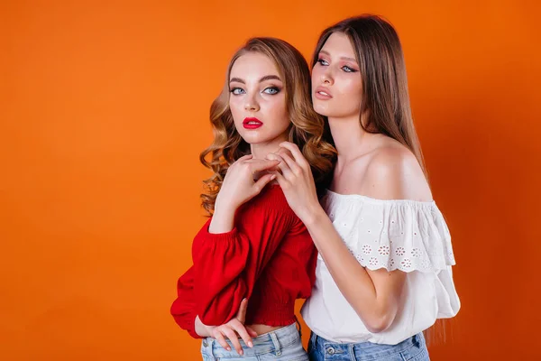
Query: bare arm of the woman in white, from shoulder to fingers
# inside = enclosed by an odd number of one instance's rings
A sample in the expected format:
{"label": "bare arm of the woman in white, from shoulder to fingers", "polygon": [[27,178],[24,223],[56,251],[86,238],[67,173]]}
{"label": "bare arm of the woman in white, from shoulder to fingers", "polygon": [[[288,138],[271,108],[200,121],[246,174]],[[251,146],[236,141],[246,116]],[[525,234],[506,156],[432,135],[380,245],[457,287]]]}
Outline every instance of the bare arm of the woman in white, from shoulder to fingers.
{"label": "bare arm of the woman in white, from shoulder to fingers", "polygon": [[[293,154],[276,155],[283,161],[277,180],[286,194],[289,206],[307,226],[314,243],[333,276],[336,285],[353,310],[371,332],[381,332],[390,327],[399,310],[399,297],[406,279],[401,271],[386,269],[367,270],[349,253],[325,210],[316,197],[314,180],[307,161],[296,145],[284,143]],[[401,162],[397,154],[388,154],[371,166],[367,180],[371,184],[371,197],[381,199],[408,199],[411,188],[410,162]],[[397,159],[399,160],[397,164]],[[414,164],[415,165],[415,164]],[[428,195],[428,197],[430,197]]]}

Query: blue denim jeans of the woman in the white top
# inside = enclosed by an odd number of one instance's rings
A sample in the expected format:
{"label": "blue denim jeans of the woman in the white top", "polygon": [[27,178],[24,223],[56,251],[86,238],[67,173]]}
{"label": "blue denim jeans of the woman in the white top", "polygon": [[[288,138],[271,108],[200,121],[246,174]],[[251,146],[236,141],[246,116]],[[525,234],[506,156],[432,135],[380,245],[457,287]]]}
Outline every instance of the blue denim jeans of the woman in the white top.
{"label": "blue denim jeans of the woman in the white top", "polygon": [[308,343],[310,361],[430,361],[423,333],[398,345],[371,342],[337,344],[312,332]]}

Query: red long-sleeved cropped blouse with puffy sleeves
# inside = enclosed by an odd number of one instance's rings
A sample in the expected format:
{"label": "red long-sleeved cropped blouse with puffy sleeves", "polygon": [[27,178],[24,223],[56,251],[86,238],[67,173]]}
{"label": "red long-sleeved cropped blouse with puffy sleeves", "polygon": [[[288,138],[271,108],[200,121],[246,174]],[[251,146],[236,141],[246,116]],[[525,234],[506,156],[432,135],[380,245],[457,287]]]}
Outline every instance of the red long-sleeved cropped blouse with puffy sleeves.
{"label": "red long-sleeved cropped blouse with puffy sleeves", "polygon": [[316,281],[316,247],[289,208],[280,186],[265,187],[237,210],[234,229],[194,238],[194,265],[180,278],[171,314],[194,338],[195,319],[222,325],[248,298],[246,324],[287,326],[295,300],[310,296]]}

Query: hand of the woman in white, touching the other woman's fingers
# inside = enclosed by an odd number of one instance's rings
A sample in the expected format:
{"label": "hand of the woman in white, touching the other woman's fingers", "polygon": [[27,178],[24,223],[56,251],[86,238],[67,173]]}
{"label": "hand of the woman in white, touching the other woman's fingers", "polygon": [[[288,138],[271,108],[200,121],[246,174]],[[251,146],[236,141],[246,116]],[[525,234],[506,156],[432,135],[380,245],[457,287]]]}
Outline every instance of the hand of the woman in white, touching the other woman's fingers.
{"label": "hand of the woman in white, touching the other woman's fingers", "polygon": [[283,151],[267,155],[269,160],[280,161],[280,171],[271,171],[271,174],[276,176],[289,207],[303,223],[308,224],[315,218],[315,211],[321,208],[310,164],[296,144],[284,142],[280,148]]}

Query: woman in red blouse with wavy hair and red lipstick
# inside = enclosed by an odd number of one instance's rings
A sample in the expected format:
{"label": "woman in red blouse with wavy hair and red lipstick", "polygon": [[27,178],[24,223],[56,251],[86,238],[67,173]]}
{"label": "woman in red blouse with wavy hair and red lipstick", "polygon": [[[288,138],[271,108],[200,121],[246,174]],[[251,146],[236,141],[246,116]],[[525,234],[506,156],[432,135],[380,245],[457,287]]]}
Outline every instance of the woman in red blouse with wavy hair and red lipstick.
{"label": "woman in red blouse with wavy hair and red lipstick", "polygon": [[212,217],[194,238],[194,264],[179,278],[171,314],[204,338],[206,360],[307,360],[294,306],[311,293],[316,248],[270,173],[279,161],[265,159],[289,141],[318,183],[332,170],[335,148],[311,105],[306,60],[279,39],[246,42],[210,119],[215,140],[200,159],[214,173],[202,195]]}

